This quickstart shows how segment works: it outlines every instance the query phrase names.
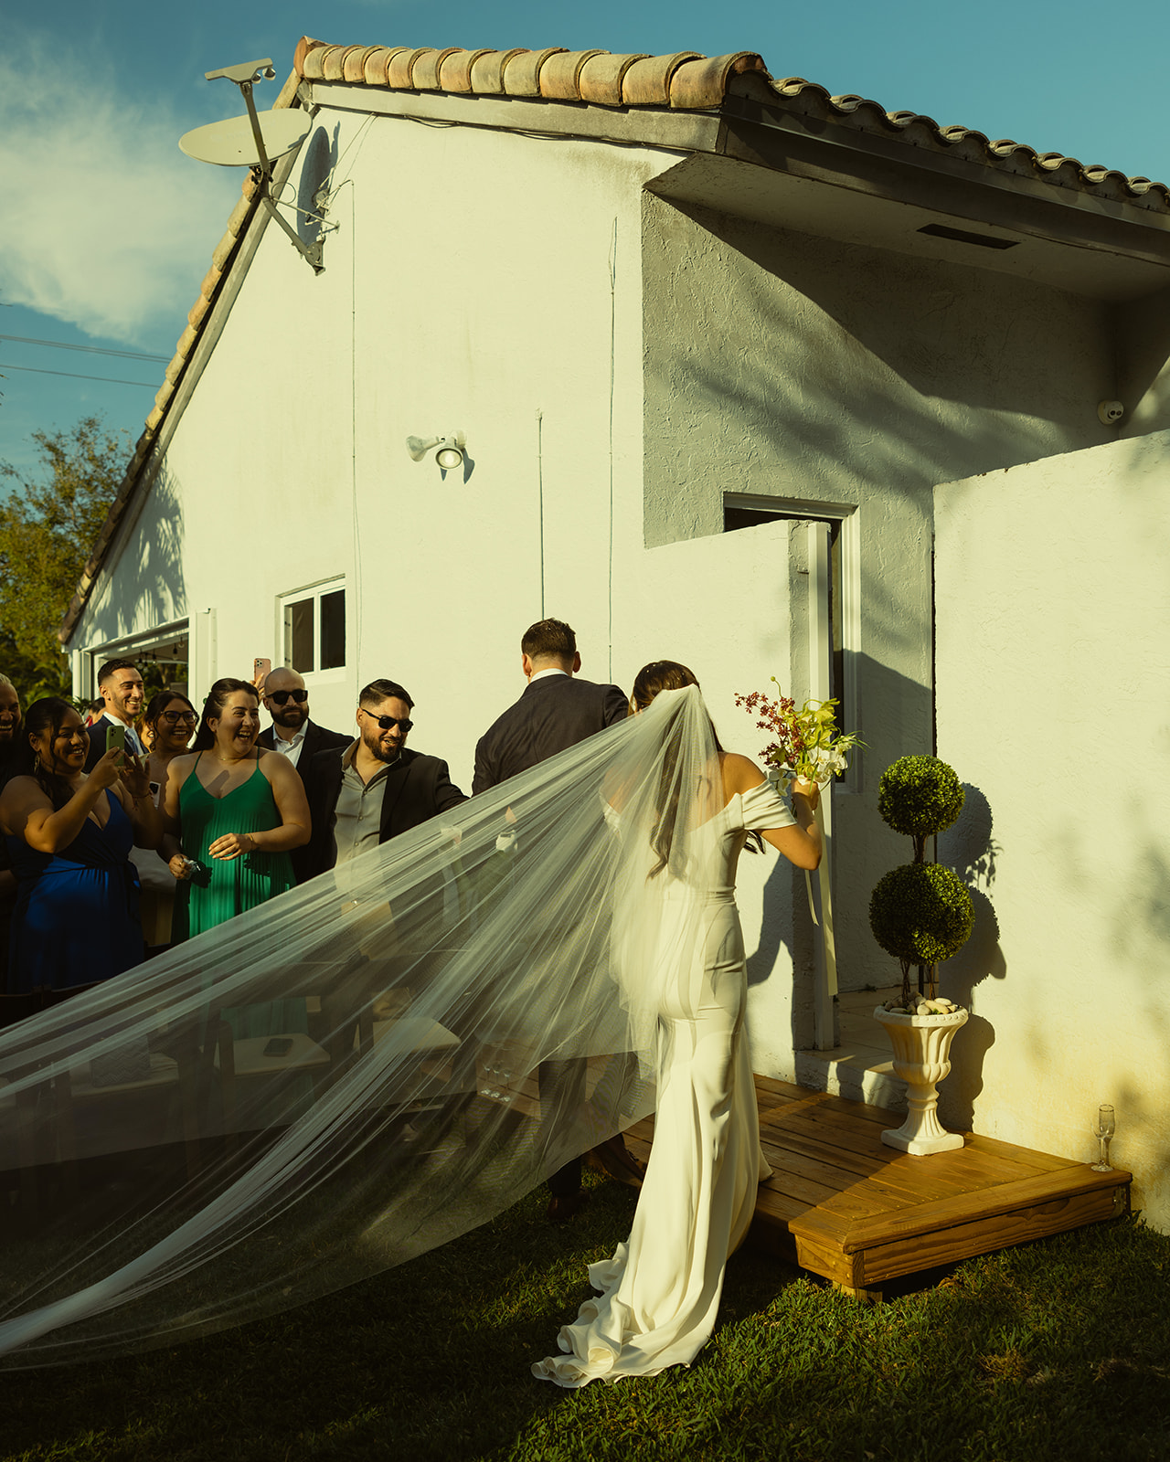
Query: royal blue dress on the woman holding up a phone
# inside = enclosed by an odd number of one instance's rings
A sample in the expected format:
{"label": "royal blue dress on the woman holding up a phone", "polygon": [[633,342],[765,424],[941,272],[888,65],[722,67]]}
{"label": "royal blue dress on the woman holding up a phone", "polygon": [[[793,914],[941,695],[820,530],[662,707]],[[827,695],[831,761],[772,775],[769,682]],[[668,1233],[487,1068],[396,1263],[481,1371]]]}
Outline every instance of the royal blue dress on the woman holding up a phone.
{"label": "royal blue dress on the woman holding up a phone", "polygon": [[142,962],[135,829],[117,797],[110,817],[92,817],[58,852],[38,852],[7,838],[16,874],[9,940],[9,990],[67,990],[110,980]]}

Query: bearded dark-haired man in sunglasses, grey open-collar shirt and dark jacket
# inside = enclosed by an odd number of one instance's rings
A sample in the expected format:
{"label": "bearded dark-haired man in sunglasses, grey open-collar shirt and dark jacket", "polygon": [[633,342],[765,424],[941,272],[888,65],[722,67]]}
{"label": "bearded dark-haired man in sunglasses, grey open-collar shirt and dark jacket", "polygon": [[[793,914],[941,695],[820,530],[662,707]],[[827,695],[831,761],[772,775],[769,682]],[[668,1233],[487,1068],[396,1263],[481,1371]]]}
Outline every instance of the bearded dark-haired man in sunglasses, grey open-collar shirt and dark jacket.
{"label": "bearded dark-haired man in sunglasses, grey open-collar shirt and dark jacket", "polygon": [[446,762],[407,746],[412,709],[402,686],[374,680],[358,696],[357,740],[313,757],[304,778],[313,817],[310,877],[467,801]]}

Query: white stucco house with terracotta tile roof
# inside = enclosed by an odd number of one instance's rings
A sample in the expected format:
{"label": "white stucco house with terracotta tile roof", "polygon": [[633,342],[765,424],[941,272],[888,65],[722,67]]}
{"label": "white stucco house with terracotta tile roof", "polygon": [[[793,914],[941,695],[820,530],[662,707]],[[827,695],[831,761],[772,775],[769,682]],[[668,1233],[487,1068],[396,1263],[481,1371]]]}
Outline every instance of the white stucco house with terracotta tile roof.
{"label": "white stucco house with terracotta tile roof", "polygon": [[[589,678],[690,664],[749,753],[736,692],[835,694],[841,988],[898,980],[878,778],[937,751],[980,905],[943,1116],[1088,1159],[1113,1101],[1170,1228],[1167,189],[747,53],[306,38],[276,107],[312,114],[273,196],[323,272],[249,181],[64,621],[76,692],[271,656],[344,728],[392,675],[464,785],[546,614]],[[456,471],[407,450],[448,436]],[[803,880],[744,860],[743,906],[756,1069],[826,1047],[880,1096]]]}

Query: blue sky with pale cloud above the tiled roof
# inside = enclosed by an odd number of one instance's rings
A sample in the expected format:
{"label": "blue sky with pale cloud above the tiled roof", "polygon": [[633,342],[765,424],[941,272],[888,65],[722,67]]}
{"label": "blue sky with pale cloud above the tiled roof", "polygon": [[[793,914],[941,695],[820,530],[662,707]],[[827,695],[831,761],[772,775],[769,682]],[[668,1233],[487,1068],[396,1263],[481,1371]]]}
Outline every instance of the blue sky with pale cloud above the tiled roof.
{"label": "blue sky with pale cloud above the tiled roof", "polygon": [[[0,461],[22,468],[29,433],[91,412],[139,436],[164,361],[94,346],[170,360],[238,197],[238,170],[177,148],[190,127],[241,110],[238,91],[203,72],[271,56],[278,79],[257,88],[271,105],[303,34],[759,51],[777,77],[1170,181],[1166,0],[0,0]],[[78,379],[89,376],[101,380]]]}

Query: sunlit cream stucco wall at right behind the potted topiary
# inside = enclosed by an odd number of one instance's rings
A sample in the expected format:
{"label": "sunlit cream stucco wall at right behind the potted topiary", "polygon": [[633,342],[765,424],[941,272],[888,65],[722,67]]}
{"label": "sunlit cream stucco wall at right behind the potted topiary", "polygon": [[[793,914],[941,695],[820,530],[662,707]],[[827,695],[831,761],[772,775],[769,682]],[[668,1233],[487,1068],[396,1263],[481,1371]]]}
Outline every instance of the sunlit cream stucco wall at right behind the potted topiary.
{"label": "sunlit cream stucco wall at right behind the potted topiary", "polygon": [[[1097,1107],[1170,1231],[1170,433],[935,493],[940,861],[978,923],[943,1111],[1091,1161]],[[973,708],[975,713],[973,713]]]}

